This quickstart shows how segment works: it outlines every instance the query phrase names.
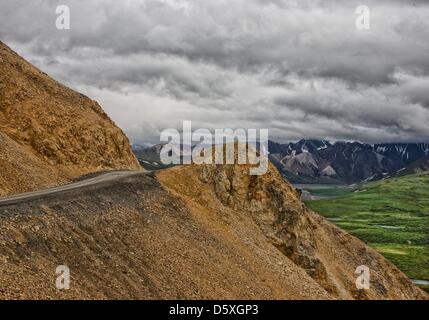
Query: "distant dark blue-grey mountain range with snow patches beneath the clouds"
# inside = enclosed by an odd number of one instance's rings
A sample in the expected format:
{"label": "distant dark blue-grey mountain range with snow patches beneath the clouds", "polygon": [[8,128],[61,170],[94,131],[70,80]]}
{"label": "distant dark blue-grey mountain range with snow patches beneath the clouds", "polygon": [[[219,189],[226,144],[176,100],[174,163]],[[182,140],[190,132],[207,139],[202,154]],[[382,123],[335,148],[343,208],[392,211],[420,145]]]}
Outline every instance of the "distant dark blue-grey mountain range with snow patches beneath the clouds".
{"label": "distant dark blue-grey mountain range with snow patches beneath the clouds", "polygon": [[[161,145],[133,145],[143,166],[162,167]],[[292,183],[352,184],[429,170],[429,143],[269,141],[270,160]],[[153,168],[151,168],[153,169]]]}

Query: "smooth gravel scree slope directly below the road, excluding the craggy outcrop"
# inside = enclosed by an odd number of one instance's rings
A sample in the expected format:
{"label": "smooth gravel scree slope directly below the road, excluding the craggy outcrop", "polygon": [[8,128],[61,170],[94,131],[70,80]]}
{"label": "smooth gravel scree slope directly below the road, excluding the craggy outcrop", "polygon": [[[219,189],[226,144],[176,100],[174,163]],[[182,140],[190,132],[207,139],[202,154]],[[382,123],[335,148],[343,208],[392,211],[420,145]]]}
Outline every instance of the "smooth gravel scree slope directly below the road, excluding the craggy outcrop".
{"label": "smooth gravel scree slope directly below the road, excluding the craggy outcrop", "polygon": [[153,173],[0,207],[0,299],[330,298],[253,221],[228,219],[189,211]]}

